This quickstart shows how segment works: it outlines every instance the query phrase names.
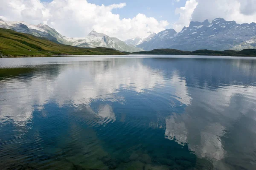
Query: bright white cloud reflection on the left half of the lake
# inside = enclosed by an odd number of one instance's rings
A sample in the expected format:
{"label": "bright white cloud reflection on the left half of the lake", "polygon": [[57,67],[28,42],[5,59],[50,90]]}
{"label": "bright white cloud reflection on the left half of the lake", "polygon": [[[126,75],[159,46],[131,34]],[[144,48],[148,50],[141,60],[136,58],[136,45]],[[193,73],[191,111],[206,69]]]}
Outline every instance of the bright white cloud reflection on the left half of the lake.
{"label": "bright white cloud reflection on the left half of the lake", "polygon": [[[37,61],[37,59],[32,61],[32,63],[22,60],[19,60],[17,63],[22,63],[22,65],[36,65],[38,62],[41,62],[41,64],[46,63],[42,63],[41,60]],[[71,60],[86,62],[87,64],[67,64]],[[40,74],[38,77],[32,78],[31,81],[24,82],[12,79],[10,80],[12,83],[1,82],[0,88],[3,89],[21,86],[23,88],[17,88],[15,91],[9,93],[0,91],[0,95],[5,99],[4,101],[0,101],[0,124],[3,122],[2,120],[12,119],[19,125],[26,125],[32,119],[33,112],[35,110],[43,110],[49,101],[58,103],[59,107],[64,107],[67,102],[77,107],[89,107],[90,103],[96,99],[105,102],[122,103],[126,99],[125,96],[118,94],[120,88],[131,89],[140,93],[145,89],[153,90],[154,88],[159,88],[158,86],[165,85],[162,76],[163,73],[161,71],[154,71],[148,66],[143,65],[142,59],[128,61],[122,57],[121,60],[116,62],[116,59],[105,58],[104,62],[99,62],[102,61],[102,58],[74,57],[71,60],[66,60],[66,64],[58,68],[59,74],[54,79],[47,74]],[[60,59],[54,58],[52,63],[58,61],[61,62]],[[106,63],[108,63],[107,67]],[[13,67],[15,67],[15,64]],[[83,71],[81,72],[81,70]],[[41,83],[49,79],[52,79],[52,81]],[[184,84],[185,82],[181,83]],[[186,95],[186,91],[183,92],[183,88],[181,87],[177,90],[178,94],[181,93],[179,95],[181,102],[183,100],[186,101],[186,99],[183,99],[186,97],[184,96]],[[97,120],[97,123],[116,120],[111,105],[100,106],[95,114],[100,118]]]}

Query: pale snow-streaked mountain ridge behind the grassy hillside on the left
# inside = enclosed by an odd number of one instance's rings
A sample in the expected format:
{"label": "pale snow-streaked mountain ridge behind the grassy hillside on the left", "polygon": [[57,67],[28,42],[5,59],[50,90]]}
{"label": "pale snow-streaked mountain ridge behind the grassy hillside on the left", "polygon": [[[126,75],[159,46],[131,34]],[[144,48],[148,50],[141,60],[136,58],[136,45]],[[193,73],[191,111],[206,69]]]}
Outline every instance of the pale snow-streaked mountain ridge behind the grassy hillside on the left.
{"label": "pale snow-streaked mountain ridge behind the grassy hillside on the left", "polygon": [[86,37],[69,38],[64,37],[63,35],[59,34],[55,29],[44,24],[34,26],[24,22],[5,22],[3,20],[0,20],[0,28],[12,29],[17,32],[32,34],[38,37],[46,37],[49,40],[59,42],[65,45],[88,48],[115,48],[116,50],[127,52],[143,51],[141,48],[136,48],[133,45],[128,45],[115,37],[109,37],[106,34],[97,33],[94,30],[91,31]]}

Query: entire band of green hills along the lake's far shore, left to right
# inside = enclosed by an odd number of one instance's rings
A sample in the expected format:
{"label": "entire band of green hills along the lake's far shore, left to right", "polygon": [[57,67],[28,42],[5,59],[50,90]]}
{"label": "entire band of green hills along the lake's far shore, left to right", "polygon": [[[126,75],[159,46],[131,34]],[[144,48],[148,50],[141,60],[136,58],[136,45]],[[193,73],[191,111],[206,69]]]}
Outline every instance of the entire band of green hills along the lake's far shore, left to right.
{"label": "entire band of green hills along the lake's far shore, left to right", "polygon": [[63,45],[37,37],[31,34],[18,33],[11,29],[0,28],[0,58],[2,57],[36,57],[56,55],[124,55],[124,54],[154,54],[154,55],[211,55],[211,56],[246,56],[255,57],[256,49],[241,51],[225,50],[196,50],[180,51],[176,49],[155,49],[134,53],[121,52],[113,48],[80,48],[72,45]]}

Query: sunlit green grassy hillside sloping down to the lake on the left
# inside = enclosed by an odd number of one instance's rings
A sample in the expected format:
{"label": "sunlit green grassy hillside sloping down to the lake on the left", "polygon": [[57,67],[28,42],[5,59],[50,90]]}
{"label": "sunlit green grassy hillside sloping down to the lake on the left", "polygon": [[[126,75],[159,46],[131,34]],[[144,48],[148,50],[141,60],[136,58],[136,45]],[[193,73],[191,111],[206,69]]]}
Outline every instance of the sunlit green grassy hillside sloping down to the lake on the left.
{"label": "sunlit green grassy hillside sloping down to the lake on the left", "polygon": [[79,48],[0,28],[0,56],[122,55],[111,48]]}

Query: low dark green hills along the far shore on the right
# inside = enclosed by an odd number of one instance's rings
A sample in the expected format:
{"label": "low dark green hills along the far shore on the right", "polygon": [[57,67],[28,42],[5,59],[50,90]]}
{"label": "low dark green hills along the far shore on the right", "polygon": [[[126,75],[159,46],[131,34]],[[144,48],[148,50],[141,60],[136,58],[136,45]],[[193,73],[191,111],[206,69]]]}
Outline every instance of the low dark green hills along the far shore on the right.
{"label": "low dark green hills along the far shore on the right", "polygon": [[140,51],[135,53],[125,54],[154,54],[154,55],[205,55],[205,56],[241,56],[241,57],[256,57],[255,49],[245,49],[241,51],[225,50],[197,50],[197,51],[180,51],[175,49],[155,49],[152,51]]}

